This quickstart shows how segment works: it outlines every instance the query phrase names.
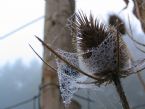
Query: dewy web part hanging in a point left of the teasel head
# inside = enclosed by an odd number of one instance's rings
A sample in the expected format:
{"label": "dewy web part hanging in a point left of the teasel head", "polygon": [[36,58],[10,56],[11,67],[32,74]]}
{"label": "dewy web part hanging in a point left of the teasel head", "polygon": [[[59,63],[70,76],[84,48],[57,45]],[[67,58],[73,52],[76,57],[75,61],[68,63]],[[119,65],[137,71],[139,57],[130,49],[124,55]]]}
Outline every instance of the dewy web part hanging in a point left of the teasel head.
{"label": "dewy web part hanging in a point left of the teasel head", "polygon": [[[77,53],[70,53],[60,49],[57,50],[57,52],[68,62],[76,67],[79,67]],[[73,94],[77,92],[79,88],[96,88],[96,85],[94,84],[81,84],[84,81],[87,81],[87,76],[80,74],[59,59],[56,60],[56,63],[60,92],[65,104],[69,104],[71,102]],[[91,79],[88,79],[88,81],[91,81]]]}

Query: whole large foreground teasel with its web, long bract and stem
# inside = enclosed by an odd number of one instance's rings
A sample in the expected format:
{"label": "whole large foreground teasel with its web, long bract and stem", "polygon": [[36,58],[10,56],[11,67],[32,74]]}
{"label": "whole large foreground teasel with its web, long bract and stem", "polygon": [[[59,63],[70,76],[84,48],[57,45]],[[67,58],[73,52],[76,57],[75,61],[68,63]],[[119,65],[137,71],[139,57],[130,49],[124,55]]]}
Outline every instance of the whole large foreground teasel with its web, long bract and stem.
{"label": "whole large foreground teasel with its web, long bract and stem", "polygon": [[[76,37],[77,53],[56,52],[37,37],[58,58],[57,73],[64,103],[70,103],[79,88],[113,82],[124,109],[129,109],[120,78],[128,76],[132,71],[145,69],[142,66],[145,59],[130,66],[130,56],[118,29],[102,24],[91,14],[87,18],[85,14],[78,13],[71,19],[69,27]],[[137,71],[138,65],[142,68]],[[86,81],[88,78],[91,81]],[[92,82],[92,79],[95,81]]]}

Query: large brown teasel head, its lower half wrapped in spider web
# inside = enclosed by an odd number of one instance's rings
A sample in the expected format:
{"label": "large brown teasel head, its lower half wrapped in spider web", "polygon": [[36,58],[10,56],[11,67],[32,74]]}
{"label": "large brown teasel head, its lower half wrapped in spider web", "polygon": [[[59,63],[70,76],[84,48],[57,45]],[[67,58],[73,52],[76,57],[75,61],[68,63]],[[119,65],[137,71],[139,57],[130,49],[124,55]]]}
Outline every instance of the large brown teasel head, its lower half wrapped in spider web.
{"label": "large brown teasel head, its lower half wrapped in spider web", "polygon": [[[108,78],[106,77],[108,74],[117,72],[118,63],[120,70],[129,68],[128,49],[117,29],[104,25],[91,14],[87,18],[80,12],[75,14],[75,18],[73,30],[76,33],[75,43],[82,70]],[[120,62],[117,62],[118,59]]]}

